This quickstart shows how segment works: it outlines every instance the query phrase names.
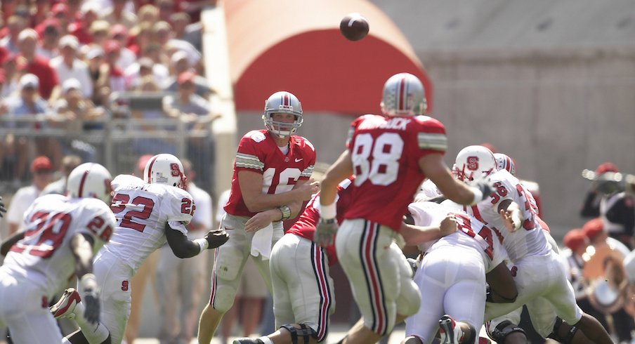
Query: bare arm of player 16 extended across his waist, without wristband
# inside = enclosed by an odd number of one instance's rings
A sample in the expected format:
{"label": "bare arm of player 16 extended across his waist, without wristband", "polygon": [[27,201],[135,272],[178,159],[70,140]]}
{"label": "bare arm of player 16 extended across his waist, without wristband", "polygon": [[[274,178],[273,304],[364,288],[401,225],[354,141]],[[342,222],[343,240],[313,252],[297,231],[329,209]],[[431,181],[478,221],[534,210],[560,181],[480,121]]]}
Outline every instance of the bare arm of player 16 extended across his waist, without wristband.
{"label": "bare arm of player 16 extended across his waist, without wristband", "polygon": [[288,205],[294,201],[308,201],[315,192],[318,192],[320,183],[305,183],[299,181],[298,187],[294,187],[287,192],[280,194],[263,193],[263,176],[257,172],[240,171],[238,172],[238,185],[242,192],[242,199],[249,211],[257,213],[258,211],[266,211],[278,206]]}

